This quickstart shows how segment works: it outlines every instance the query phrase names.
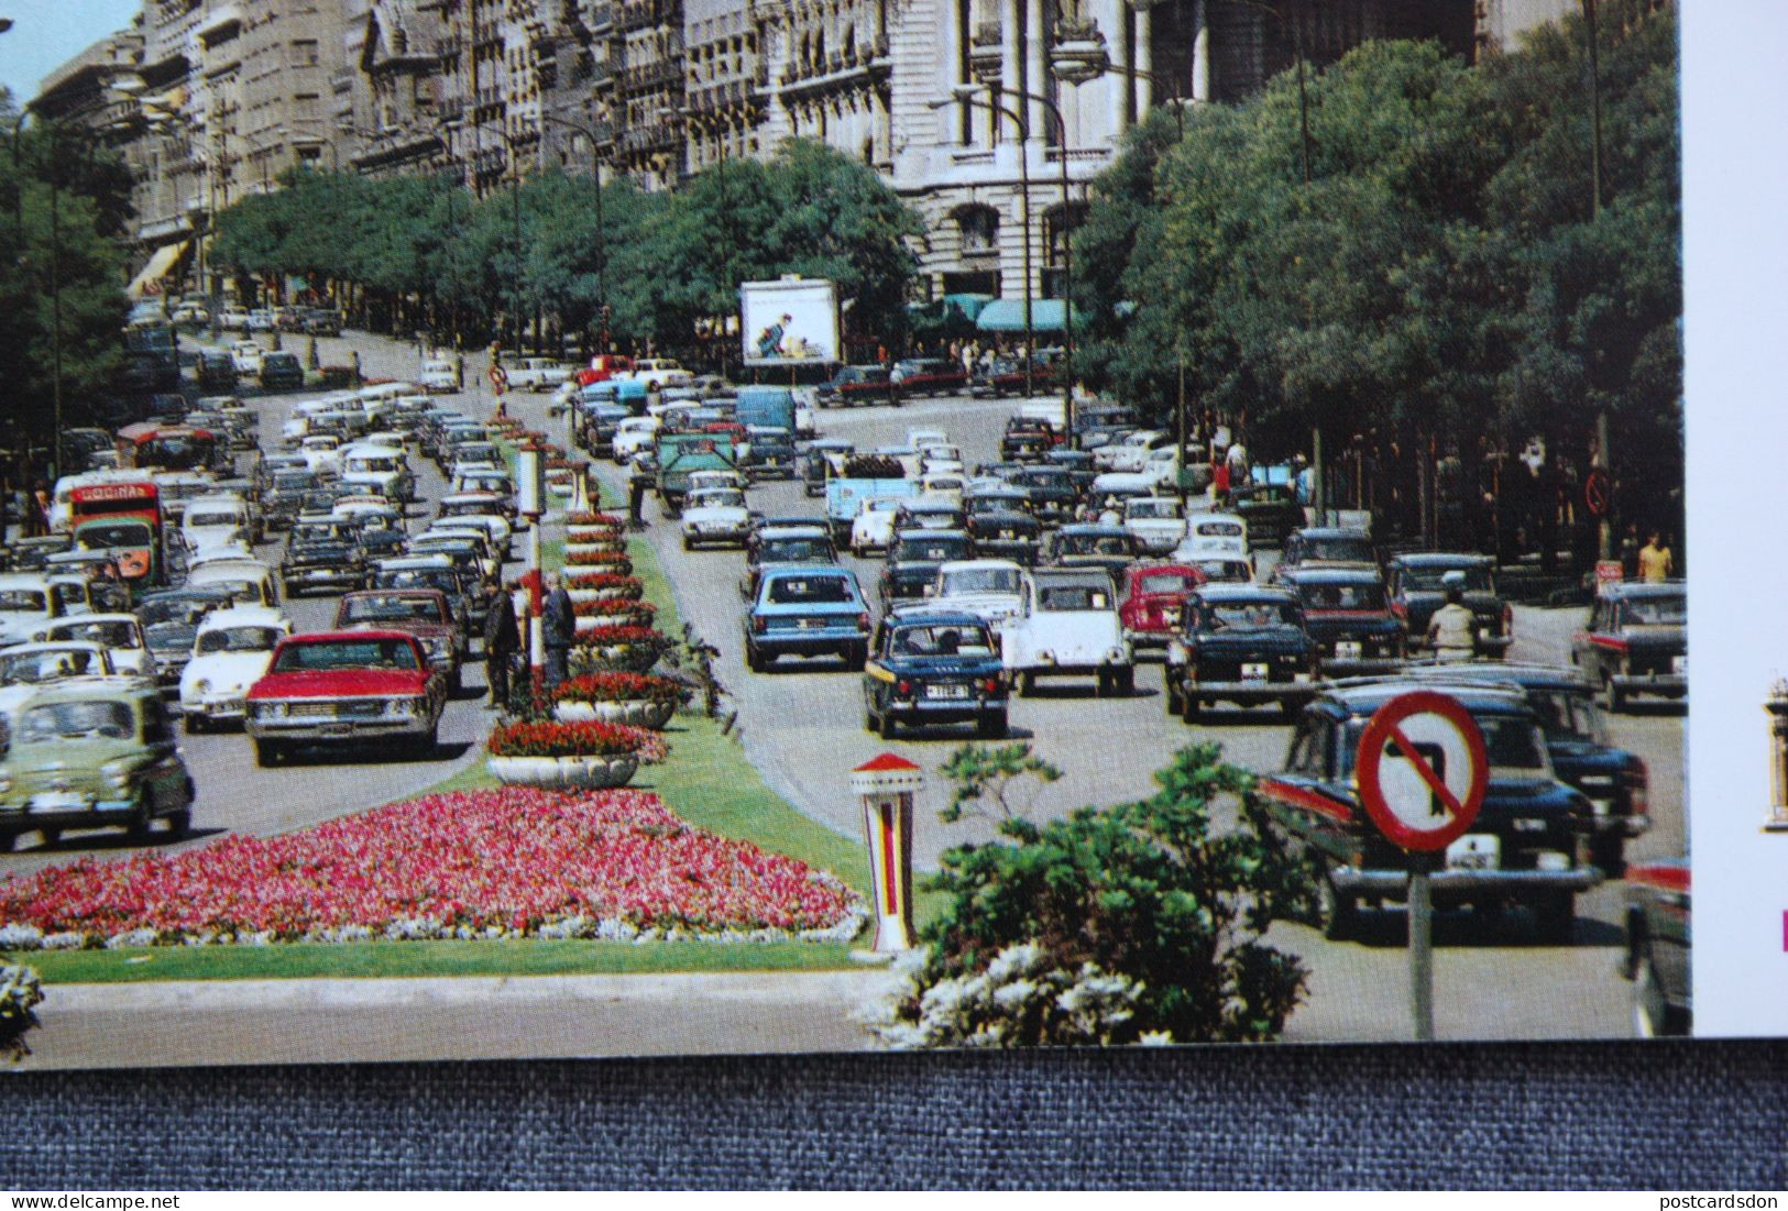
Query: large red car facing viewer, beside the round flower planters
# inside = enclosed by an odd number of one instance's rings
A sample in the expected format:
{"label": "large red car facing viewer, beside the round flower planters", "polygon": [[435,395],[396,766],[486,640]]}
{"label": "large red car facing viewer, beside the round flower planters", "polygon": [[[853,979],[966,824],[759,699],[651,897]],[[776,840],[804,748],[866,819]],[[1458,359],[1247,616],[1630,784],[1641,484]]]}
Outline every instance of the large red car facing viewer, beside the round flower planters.
{"label": "large red car facing viewer, beside the round flower planters", "polygon": [[402,631],[325,631],[281,639],[249,688],[247,731],[261,766],[295,748],[384,745],[433,756],[447,679]]}

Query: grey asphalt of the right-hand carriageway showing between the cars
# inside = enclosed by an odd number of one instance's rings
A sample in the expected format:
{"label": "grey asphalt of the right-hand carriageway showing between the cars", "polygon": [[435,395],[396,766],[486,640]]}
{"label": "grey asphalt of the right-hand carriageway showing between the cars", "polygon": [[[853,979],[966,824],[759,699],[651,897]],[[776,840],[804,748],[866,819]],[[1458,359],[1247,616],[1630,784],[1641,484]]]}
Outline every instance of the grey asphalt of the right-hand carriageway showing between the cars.
{"label": "grey asphalt of the right-hand carriageway showing between the cars", "polygon": [[[824,411],[822,436],[846,438],[860,448],[898,443],[910,425],[948,429],[969,464],[991,459],[1005,418],[1016,404],[966,398],[914,402],[903,407]],[[620,479],[603,464],[620,498]],[[751,489],[751,504],[772,514],[822,513],[799,484],[765,482]],[[740,652],[742,602],[737,579],[742,557],[726,550],[685,552],[674,523],[647,507],[651,536],[676,589],[685,620],[715,643],[719,675],[733,693],[746,750],[765,777],[801,811],[856,836],[858,809],[846,788],[848,772],[869,757],[894,750],[933,770],[967,736],[957,729],[903,732],[885,741],[862,727],[858,675],[837,661],[780,661],[767,673],[749,673]],[[844,559],[874,593],[880,561]],[[1262,573],[1271,566],[1266,552]],[[1577,609],[1516,607],[1513,659],[1566,663]],[[1091,682],[1042,682],[1037,695],[1012,698],[1012,734],[1062,768],[1062,779],[1017,795],[1017,807],[1037,820],[1062,816],[1082,804],[1110,804],[1153,793],[1151,773],[1193,739],[1214,739],[1225,756],[1246,768],[1278,768],[1289,727],[1273,711],[1207,713],[1187,727],[1166,714],[1159,666],[1137,673],[1130,698],[1094,698]],[[1609,720],[1613,741],[1638,752],[1650,766],[1650,834],[1629,847],[1634,857],[1684,852],[1683,713],[1679,707],[1640,707]],[[937,816],[944,784],[933,781],[921,795],[914,852],[921,868],[935,868],[939,854],[964,841],[992,836],[991,822],[946,825]],[[1615,972],[1624,891],[1609,882],[1581,897],[1573,945],[1539,945],[1520,916],[1473,920],[1470,913],[1443,915],[1438,923],[1436,1016],[1441,1038],[1564,1038],[1618,1036],[1629,1029],[1629,984]],[[1380,913],[1362,941],[1330,943],[1314,929],[1278,925],[1273,941],[1303,956],[1311,1000],[1293,1018],[1287,1038],[1396,1040],[1409,1038],[1407,950],[1404,915]]]}

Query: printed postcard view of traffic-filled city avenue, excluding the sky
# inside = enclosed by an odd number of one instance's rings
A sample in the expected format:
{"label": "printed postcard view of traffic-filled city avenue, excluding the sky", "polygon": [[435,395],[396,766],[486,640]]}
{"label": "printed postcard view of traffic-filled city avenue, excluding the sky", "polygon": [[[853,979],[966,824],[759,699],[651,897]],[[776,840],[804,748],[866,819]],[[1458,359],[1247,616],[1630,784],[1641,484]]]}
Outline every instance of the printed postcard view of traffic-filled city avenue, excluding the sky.
{"label": "printed postcard view of traffic-filled city avenue, excluding the sky", "polygon": [[1674,5],[143,0],[0,105],[0,1063],[1691,1032]]}

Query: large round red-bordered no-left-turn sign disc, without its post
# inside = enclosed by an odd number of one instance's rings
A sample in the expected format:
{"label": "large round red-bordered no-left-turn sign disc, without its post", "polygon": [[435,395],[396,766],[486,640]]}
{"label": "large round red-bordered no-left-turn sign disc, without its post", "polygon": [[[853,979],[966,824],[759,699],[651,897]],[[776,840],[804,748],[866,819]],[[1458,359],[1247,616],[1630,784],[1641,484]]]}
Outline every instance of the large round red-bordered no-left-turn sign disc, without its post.
{"label": "large round red-bordered no-left-turn sign disc, without its post", "polygon": [[1359,797],[1379,831],[1405,850],[1443,850],[1484,804],[1489,756],[1472,713],[1443,693],[1402,693],[1359,738]]}

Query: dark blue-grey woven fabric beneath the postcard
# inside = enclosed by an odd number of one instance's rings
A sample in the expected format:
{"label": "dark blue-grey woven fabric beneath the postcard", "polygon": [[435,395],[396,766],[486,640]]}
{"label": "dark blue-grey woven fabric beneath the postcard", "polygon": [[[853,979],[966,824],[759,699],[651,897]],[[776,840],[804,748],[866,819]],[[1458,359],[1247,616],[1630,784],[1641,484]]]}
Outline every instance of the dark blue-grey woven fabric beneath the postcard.
{"label": "dark blue-grey woven fabric beneath the postcard", "polygon": [[1788,1186],[1788,1043],[0,1075],[0,1188]]}

